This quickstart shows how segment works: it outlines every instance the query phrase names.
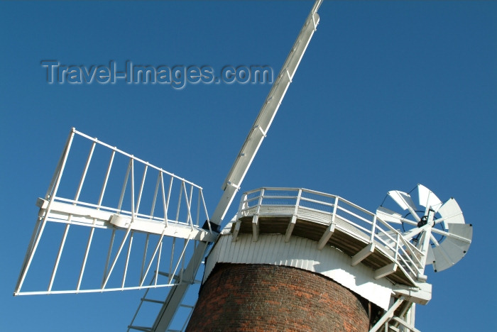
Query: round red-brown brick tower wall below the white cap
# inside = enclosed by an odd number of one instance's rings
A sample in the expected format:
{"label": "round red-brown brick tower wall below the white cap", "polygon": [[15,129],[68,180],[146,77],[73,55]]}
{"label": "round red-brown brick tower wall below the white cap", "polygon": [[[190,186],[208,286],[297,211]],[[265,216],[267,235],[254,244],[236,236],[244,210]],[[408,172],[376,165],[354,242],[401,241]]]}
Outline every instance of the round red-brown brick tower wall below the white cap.
{"label": "round red-brown brick tower wall below the white cap", "polygon": [[218,263],[187,331],[368,331],[368,303],[294,267]]}

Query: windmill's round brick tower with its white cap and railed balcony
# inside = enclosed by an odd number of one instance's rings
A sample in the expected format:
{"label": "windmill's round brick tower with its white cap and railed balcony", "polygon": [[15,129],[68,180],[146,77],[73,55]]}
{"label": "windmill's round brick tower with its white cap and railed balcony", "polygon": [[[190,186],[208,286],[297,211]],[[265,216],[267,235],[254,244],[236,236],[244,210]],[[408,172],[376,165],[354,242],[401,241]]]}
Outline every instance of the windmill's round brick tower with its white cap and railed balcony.
{"label": "windmill's round brick tower with its white cap and railed balcony", "polygon": [[187,331],[369,331],[393,283],[410,283],[371,242],[369,220],[306,189],[244,194],[207,258]]}

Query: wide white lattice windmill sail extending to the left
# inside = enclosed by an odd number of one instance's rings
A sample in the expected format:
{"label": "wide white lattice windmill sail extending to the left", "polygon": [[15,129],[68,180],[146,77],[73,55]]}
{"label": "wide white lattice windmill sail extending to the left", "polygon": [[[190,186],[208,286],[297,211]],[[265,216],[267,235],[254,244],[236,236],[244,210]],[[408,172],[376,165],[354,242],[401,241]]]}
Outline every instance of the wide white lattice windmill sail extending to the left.
{"label": "wide white lattice windmill sail extending to the left", "polygon": [[[80,150],[88,145],[84,160]],[[182,275],[185,262],[200,241],[217,238],[202,187],[75,128],[37,205],[14,295],[192,283],[193,276]],[[164,247],[168,257],[162,255]]]}

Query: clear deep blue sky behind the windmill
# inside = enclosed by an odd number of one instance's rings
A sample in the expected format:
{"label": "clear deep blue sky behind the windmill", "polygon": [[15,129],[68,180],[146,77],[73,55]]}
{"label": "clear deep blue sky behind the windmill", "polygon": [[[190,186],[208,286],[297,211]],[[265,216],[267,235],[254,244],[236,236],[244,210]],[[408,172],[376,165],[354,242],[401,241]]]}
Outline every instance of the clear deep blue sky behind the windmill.
{"label": "clear deep blue sky behind the windmill", "polygon": [[[48,84],[42,60],[90,67],[268,65],[310,1],[0,4],[2,331],[123,331],[141,291],[12,297],[71,127],[190,179],[214,211],[269,84]],[[497,3],[324,1],[320,25],[242,185],[305,187],[374,211],[422,183],[474,237],[417,306],[422,331],[490,331],[496,309]],[[234,209],[229,215],[236,211]],[[52,264],[50,262],[50,264]]]}

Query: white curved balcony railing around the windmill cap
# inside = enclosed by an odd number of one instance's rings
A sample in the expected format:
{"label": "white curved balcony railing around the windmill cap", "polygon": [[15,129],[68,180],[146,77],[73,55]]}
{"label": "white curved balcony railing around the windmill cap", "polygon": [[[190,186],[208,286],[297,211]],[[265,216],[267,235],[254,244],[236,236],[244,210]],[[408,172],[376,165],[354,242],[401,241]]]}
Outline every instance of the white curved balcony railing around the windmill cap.
{"label": "white curved balcony railing around the windmill cap", "polygon": [[342,197],[309,189],[260,188],[241,197],[238,219],[244,216],[288,216],[329,226],[373,244],[411,280],[422,280],[421,252],[400,231],[376,214]]}

